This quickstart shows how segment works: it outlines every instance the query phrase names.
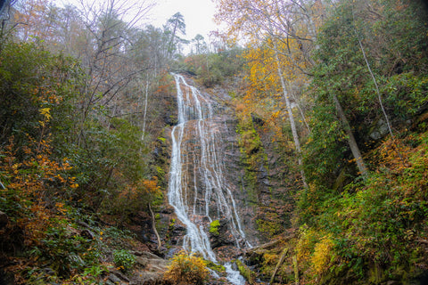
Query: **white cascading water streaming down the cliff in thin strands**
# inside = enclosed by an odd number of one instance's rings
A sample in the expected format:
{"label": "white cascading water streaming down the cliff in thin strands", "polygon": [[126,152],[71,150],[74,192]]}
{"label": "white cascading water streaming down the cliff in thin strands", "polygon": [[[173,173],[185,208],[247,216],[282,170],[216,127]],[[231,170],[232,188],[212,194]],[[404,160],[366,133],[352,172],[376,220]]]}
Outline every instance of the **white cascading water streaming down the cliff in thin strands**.
{"label": "white cascading water streaming down the cliff in thin strands", "polygon": [[[169,171],[169,204],[185,224],[183,247],[218,263],[207,234],[213,217],[226,219],[235,247],[250,246],[235,199],[226,183],[224,163],[219,153],[219,134],[224,127],[214,117],[213,102],[185,78],[174,74],[177,85],[178,124],[171,132],[172,158]],[[192,179],[193,178],[193,179]],[[227,279],[245,283],[243,276],[226,264]]]}

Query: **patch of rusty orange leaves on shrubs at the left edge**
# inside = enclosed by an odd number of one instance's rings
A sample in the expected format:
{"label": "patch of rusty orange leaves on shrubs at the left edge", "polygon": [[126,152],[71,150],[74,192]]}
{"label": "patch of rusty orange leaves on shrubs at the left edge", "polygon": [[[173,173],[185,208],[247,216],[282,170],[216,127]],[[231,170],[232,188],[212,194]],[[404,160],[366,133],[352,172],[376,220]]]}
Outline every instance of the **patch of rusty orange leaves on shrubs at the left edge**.
{"label": "patch of rusty orange leaves on shrubs at the left edge", "polygon": [[50,158],[50,141],[37,142],[29,137],[29,145],[22,147],[26,159],[18,162],[13,137],[9,145],[0,151],[0,173],[8,178],[8,184],[0,194],[14,193],[19,196],[21,211],[17,213],[17,224],[24,233],[26,246],[37,245],[43,240],[45,231],[54,216],[67,211],[62,202],[50,205],[53,197],[67,197],[69,187],[77,187],[75,177],[69,177],[69,163]]}

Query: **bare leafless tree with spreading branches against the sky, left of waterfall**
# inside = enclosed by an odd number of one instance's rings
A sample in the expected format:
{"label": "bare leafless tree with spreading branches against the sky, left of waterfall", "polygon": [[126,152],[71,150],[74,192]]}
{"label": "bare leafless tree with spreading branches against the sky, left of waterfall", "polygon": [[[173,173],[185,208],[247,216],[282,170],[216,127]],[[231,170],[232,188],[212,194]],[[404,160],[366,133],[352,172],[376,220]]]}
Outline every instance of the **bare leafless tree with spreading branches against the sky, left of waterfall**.
{"label": "bare leafless tree with spreading branches against the sky, left of waterfall", "polygon": [[80,0],[79,9],[88,33],[82,55],[86,82],[81,91],[84,98],[80,106],[78,140],[81,139],[83,124],[95,105],[108,108],[113,99],[147,69],[146,66],[136,67],[128,56],[128,50],[136,40],[136,28],[152,5],[147,1],[129,4],[125,0],[103,3]]}

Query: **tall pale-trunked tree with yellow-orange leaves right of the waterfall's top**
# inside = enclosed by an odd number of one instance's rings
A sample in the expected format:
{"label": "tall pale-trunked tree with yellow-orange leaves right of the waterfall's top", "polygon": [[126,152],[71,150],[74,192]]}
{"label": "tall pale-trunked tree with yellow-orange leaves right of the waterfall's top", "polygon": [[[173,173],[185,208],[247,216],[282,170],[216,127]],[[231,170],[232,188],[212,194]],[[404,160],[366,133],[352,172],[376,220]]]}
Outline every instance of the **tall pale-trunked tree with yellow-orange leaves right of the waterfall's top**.
{"label": "tall pale-trunked tree with yellow-orange leaves right of the waterfall's top", "polygon": [[[298,36],[298,34],[294,32],[295,27],[291,26],[289,23],[292,21],[292,16],[296,14],[294,12],[296,9],[294,7],[294,9],[289,9],[289,11],[284,12],[289,6],[289,4],[285,4],[282,1],[233,1],[232,3],[218,1],[218,7],[220,8],[218,16],[221,20],[226,20],[231,24],[231,33],[242,32],[247,37],[254,37],[254,35],[259,35],[261,30],[261,37],[264,38],[259,39],[259,41],[268,41],[269,45],[267,45],[267,47],[273,51],[272,57],[274,59],[273,63],[276,66],[276,80],[278,84],[281,85],[285,105],[287,106],[288,119],[292,128],[292,138],[297,152],[298,162],[301,167],[300,138],[292,114],[292,102],[290,100],[292,97],[292,88],[289,87],[292,85],[292,78],[295,77],[295,70],[290,73],[286,72],[289,76],[284,76],[284,62],[286,62],[285,64],[292,64],[294,67],[303,70],[304,68],[301,66],[305,64],[305,61],[296,61],[296,54],[301,54],[302,51],[307,52],[307,48],[303,48],[300,45],[302,45],[302,40],[311,39],[306,39],[305,36]],[[297,5],[297,7],[300,8],[300,10],[305,9],[304,6],[301,5]],[[281,36],[282,34],[286,35],[286,37],[284,38],[284,36]],[[300,48],[293,49],[292,42],[297,42]],[[282,49],[279,48],[280,44],[283,47]],[[286,56],[286,61],[280,61],[280,54]],[[308,55],[308,53],[303,53],[303,55]],[[303,56],[302,58],[309,57]],[[292,70],[293,68],[289,66],[285,69]],[[288,78],[288,83],[285,82],[285,78]],[[260,80],[263,80],[263,78],[260,78]],[[295,103],[299,104],[297,100]],[[301,109],[300,114],[303,116],[303,121],[306,121]],[[303,184],[306,186],[303,170],[301,170],[301,177]]]}

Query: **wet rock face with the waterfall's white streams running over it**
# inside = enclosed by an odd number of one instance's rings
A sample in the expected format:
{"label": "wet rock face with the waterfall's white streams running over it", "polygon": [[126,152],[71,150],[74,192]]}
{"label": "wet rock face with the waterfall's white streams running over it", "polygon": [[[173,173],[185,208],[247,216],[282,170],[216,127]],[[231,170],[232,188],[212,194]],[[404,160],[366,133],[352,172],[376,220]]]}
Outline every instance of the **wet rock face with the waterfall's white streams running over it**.
{"label": "wet rock face with the waterfall's white streams running over it", "polygon": [[[242,186],[235,112],[225,94],[198,90],[188,78],[176,80],[181,94],[178,125],[171,129],[169,203],[177,218],[166,236],[207,259],[216,259],[216,250],[230,253],[218,256],[223,261],[235,259],[258,242],[254,211]],[[209,233],[214,220],[219,221],[218,235]]]}

